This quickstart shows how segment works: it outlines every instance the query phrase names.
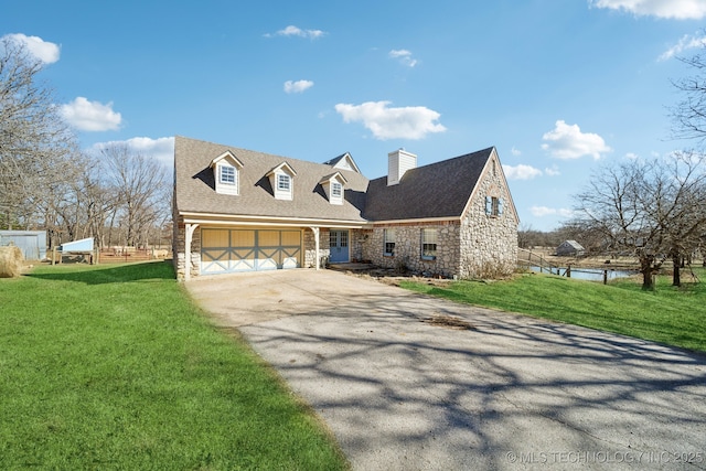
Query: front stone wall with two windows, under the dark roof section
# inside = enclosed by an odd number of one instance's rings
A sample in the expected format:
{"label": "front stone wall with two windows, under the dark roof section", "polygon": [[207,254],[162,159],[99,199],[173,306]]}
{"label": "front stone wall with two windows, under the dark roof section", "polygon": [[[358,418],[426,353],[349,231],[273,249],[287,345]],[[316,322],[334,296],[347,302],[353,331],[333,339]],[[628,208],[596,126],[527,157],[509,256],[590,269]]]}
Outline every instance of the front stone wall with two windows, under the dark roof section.
{"label": "front stone wall with two windows, under the dark roof section", "polygon": [[[384,229],[395,229],[395,255],[385,256]],[[436,260],[421,259],[421,229],[437,229]],[[428,276],[440,275],[451,278],[458,275],[460,256],[458,222],[435,222],[420,224],[389,224],[374,227],[363,233],[367,238],[362,244],[363,259],[385,268],[404,268]]]}

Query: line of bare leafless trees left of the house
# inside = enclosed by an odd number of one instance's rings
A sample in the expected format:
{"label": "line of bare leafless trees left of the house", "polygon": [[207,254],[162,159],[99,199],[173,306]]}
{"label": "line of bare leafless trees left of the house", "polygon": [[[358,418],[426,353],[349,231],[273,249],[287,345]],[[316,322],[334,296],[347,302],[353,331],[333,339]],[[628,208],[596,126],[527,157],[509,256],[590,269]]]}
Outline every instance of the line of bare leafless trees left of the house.
{"label": "line of bare leafless trees left of the house", "polygon": [[0,229],[46,229],[50,246],[160,240],[171,222],[167,169],[121,143],[82,150],[42,68],[23,44],[0,41]]}

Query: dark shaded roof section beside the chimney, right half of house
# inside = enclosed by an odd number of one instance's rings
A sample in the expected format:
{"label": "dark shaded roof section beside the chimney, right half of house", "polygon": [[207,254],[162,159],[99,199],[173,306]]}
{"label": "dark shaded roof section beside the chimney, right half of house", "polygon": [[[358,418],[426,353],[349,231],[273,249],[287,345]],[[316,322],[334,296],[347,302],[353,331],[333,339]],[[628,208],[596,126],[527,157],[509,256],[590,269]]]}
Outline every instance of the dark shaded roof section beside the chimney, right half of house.
{"label": "dark shaded roof section beside the chimney, right half of house", "polygon": [[408,170],[396,185],[372,180],[363,217],[368,221],[456,217],[471,197],[493,148]]}

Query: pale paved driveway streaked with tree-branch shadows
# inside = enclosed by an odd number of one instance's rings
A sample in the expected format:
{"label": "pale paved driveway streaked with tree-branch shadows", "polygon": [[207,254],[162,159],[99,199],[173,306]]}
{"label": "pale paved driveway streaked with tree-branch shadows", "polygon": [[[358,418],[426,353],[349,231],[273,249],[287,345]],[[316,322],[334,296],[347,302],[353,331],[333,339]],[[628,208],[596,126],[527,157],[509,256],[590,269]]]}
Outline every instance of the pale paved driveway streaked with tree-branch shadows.
{"label": "pale paved driveway streaked with tree-branch shadows", "polygon": [[[331,270],[186,287],[356,470],[706,469],[705,356]],[[471,329],[424,321],[435,315]]]}

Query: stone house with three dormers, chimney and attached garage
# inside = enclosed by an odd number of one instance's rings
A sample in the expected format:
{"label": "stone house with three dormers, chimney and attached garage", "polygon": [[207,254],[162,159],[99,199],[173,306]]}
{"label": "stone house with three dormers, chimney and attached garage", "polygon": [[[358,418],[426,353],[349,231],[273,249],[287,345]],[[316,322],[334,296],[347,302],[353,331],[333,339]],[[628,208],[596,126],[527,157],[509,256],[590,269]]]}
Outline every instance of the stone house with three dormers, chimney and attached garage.
{"label": "stone house with three dormers, chimney and attached garage", "polygon": [[511,272],[517,213],[495,148],[368,180],[324,163],[176,137],[173,260],[192,276],[370,260],[443,277]]}

